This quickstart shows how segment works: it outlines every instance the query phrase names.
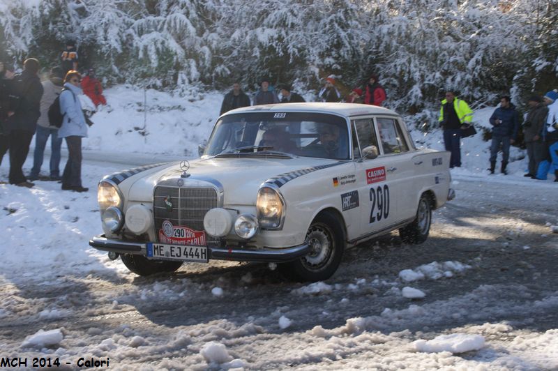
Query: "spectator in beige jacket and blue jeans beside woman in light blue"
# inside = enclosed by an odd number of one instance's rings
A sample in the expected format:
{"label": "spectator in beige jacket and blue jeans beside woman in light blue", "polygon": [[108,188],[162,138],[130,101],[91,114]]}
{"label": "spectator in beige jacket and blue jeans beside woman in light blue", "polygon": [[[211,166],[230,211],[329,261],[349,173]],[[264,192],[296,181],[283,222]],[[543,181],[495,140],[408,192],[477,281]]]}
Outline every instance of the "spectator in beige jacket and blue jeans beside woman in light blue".
{"label": "spectator in beige jacket and blue jeans beside woman in light blue", "polygon": [[40,167],[43,165],[45,146],[50,137],[50,177],[45,180],[60,180],[60,147],[62,138],[58,137],[58,128],[51,126],[48,120],[48,109],[62,91],[62,70],[54,67],[50,70],[50,79],[43,81],[43,98],[40,100],[40,117],[37,121],[35,133],[35,153],[33,153],[33,168],[29,174],[29,180],[40,179]]}

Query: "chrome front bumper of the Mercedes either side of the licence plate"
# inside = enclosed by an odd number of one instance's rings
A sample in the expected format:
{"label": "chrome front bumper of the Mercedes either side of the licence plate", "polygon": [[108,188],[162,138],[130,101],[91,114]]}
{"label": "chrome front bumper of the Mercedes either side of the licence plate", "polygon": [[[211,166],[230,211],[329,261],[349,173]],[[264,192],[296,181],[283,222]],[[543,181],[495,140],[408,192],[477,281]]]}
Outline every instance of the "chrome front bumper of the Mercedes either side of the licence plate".
{"label": "chrome front bumper of the Mercedes either side of the licence plate", "polygon": [[[97,250],[116,252],[118,254],[146,255],[147,244],[133,241],[107,239],[104,234],[89,240],[89,245]],[[215,248],[208,247],[209,259],[234,260],[236,262],[284,263],[296,260],[310,253],[310,245],[292,248]]]}

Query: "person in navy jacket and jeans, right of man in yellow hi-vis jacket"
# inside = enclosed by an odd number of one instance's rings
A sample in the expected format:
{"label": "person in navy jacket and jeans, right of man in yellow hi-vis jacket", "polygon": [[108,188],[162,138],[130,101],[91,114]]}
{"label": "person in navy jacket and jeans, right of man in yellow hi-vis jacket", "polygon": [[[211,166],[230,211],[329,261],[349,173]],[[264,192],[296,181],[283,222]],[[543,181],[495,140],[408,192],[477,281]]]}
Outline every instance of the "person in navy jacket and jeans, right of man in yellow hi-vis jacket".
{"label": "person in navy jacket and jeans, right of man in yellow hi-vis jacket", "polygon": [[515,143],[518,138],[519,114],[515,111],[515,106],[511,103],[509,96],[500,99],[500,107],[495,109],[490,116],[492,125],[492,144],[490,145],[490,174],[494,174],[496,158],[500,146],[502,146],[502,168],[500,172],[506,175],[506,167],[510,157],[510,145]]}

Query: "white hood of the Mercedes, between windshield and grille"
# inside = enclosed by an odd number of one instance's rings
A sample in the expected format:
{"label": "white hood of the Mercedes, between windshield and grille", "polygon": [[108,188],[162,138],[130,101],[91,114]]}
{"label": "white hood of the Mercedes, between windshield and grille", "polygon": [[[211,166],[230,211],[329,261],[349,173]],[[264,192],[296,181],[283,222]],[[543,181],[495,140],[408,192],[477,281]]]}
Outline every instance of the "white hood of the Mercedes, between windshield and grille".
{"label": "white hood of the Mercedes, between windshield and grille", "polygon": [[[255,204],[259,186],[273,177],[296,172],[302,169],[338,163],[337,160],[319,158],[271,158],[271,157],[235,157],[207,158],[193,160],[187,173],[182,178],[188,185],[206,185],[205,181],[217,181],[223,186],[225,205]],[[123,192],[128,193],[129,201],[152,202],[153,188],[160,181],[180,179],[183,170],[181,162],[170,162],[167,166],[152,169],[149,174],[134,176],[128,184],[121,184]],[[123,182],[126,183],[126,182]],[[129,187],[126,192],[125,188]],[[234,197],[234,199],[230,198]]]}

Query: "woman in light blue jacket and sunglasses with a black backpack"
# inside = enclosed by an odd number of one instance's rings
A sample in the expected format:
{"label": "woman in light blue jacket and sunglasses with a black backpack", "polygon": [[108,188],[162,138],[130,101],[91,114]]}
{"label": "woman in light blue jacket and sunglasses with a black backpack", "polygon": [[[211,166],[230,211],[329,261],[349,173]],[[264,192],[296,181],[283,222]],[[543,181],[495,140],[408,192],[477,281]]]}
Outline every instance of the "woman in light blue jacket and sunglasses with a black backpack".
{"label": "woman in light blue jacket and sunglasses with a black backpack", "polygon": [[62,189],[86,192],[89,188],[82,186],[82,137],[87,137],[87,124],[78,97],[81,75],[70,70],[64,78],[64,91],[60,94],[60,112],[64,115],[59,138],[66,138],[68,145],[68,162],[62,174]]}

